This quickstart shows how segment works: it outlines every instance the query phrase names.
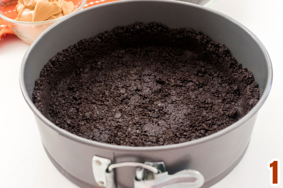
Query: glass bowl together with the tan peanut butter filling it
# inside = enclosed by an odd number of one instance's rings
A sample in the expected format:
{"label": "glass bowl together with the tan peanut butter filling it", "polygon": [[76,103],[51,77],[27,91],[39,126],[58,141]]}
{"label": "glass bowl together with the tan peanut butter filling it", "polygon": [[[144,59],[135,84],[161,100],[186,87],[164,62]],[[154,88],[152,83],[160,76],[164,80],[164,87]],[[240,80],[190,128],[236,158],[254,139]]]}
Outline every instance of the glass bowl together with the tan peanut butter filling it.
{"label": "glass bowl together with the tan peanut butter filling it", "polygon": [[85,7],[87,0],[10,0],[0,4],[3,18],[14,34],[32,43],[55,22]]}

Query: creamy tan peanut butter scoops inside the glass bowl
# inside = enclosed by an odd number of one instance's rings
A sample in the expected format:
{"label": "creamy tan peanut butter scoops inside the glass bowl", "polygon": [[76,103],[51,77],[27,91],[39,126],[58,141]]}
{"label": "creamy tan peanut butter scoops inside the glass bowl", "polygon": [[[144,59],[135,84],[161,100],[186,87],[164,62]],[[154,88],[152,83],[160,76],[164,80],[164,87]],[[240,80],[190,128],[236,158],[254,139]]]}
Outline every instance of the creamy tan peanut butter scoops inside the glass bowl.
{"label": "creamy tan peanut butter scoops inside the glass bowl", "polygon": [[19,0],[16,6],[18,18],[23,22],[40,22],[65,16],[74,11],[72,1],[64,0]]}

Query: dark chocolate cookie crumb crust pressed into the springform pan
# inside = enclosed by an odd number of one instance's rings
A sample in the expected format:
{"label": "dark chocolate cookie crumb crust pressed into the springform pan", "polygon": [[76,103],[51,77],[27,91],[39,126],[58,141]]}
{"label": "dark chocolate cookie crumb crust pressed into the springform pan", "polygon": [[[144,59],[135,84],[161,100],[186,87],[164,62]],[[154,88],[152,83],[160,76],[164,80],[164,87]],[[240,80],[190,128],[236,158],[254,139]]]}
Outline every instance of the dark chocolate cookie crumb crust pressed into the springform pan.
{"label": "dark chocolate cookie crumb crust pressed into the springform pan", "polygon": [[190,29],[120,26],[57,53],[33,102],[58,127],[114,145],[159,146],[220,131],[259,99],[229,50]]}

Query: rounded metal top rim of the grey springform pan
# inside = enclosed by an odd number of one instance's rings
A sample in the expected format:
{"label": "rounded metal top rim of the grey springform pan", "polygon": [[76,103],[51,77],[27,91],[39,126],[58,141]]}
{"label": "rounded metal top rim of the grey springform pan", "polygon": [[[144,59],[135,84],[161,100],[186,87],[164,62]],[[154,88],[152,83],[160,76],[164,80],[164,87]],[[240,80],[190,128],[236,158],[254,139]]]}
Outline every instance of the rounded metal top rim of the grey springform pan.
{"label": "rounded metal top rim of the grey springform pan", "polygon": [[[31,46],[29,47],[29,49],[25,53],[23,60],[22,60],[22,64],[20,66],[20,87],[21,87],[21,91],[22,91],[22,94],[24,96],[25,101],[27,102],[27,104],[29,105],[29,107],[31,108],[33,113],[35,114],[35,118],[39,118],[42,122],[44,122],[44,124],[46,124],[47,126],[52,128],[53,130],[55,130],[57,133],[59,133],[63,137],[71,139],[72,141],[79,142],[79,143],[86,144],[86,145],[93,146],[93,147],[97,147],[97,148],[110,149],[114,152],[114,151],[164,151],[164,150],[168,150],[168,149],[187,148],[187,147],[192,146],[192,145],[205,143],[205,142],[211,141],[213,139],[216,139],[218,137],[221,137],[222,135],[225,135],[226,133],[233,131],[233,129],[236,129],[237,127],[241,126],[242,124],[244,124],[244,122],[249,120],[252,116],[256,115],[258,110],[261,108],[261,106],[263,105],[263,103],[267,99],[267,96],[268,96],[269,91],[271,89],[273,71],[272,71],[272,64],[271,64],[269,54],[268,54],[267,50],[265,49],[264,45],[261,43],[261,41],[258,39],[258,37],[254,33],[252,33],[243,24],[234,20],[230,16],[227,16],[226,14],[223,14],[221,12],[218,12],[218,11],[215,11],[213,9],[203,7],[203,6],[200,6],[200,5],[195,5],[195,4],[192,4],[192,3],[186,3],[186,2],[182,2],[182,1],[176,1],[176,0],[158,0],[158,1],[156,1],[156,0],[121,0],[121,1],[103,3],[103,4],[100,4],[100,5],[89,7],[85,10],[86,11],[90,11],[90,10],[95,11],[95,9],[99,9],[99,7],[115,6],[116,4],[120,4],[120,3],[123,4],[123,3],[128,3],[128,2],[129,3],[130,2],[179,3],[179,4],[184,5],[184,6],[192,6],[196,9],[203,9],[205,11],[212,12],[213,14],[217,14],[218,16],[224,17],[225,19],[229,20],[230,22],[233,22],[234,24],[236,24],[237,26],[239,26],[240,28],[245,30],[245,32],[247,32],[247,34],[249,34],[256,41],[258,46],[260,47],[261,51],[263,52],[263,55],[265,57],[265,61],[267,63],[267,67],[268,67],[267,83],[264,87],[265,90],[262,93],[262,96],[261,96],[260,100],[258,101],[258,103],[245,116],[243,116],[240,120],[231,124],[230,126],[224,128],[224,129],[222,129],[222,130],[220,130],[216,133],[213,133],[209,136],[205,136],[205,137],[202,137],[200,139],[196,139],[196,140],[192,140],[192,141],[188,141],[188,142],[184,142],[184,143],[162,145],[162,146],[135,147],[135,146],[123,146],[123,145],[112,145],[112,144],[108,144],[108,143],[101,143],[101,142],[98,142],[98,141],[89,140],[89,139],[77,136],[75,134],[72,134],[72,133],[66,131],[65,129],[61,129],[61,128],[57,127],[50,120],[48,120],[45,116],[43,116],[43,114],[41,114],[41,112],[35,107],[32,100],[29,98],[29,95],[27,93],[27,89],[26,89],[25,83],[24,83],[24,69],[25,69],[25,64],[27,62],[26,60],[29,56],[29,52],[35,47],[35,44],[40,40],[41,36],[43,36],[46,32],[51,30],[53,27],[57,26],[57,24],[60,24],[61,22],[64,21],[64,20],[60,20],[59,22],[56,22],[51,27],[49,27],[44,32],[42,32],[42,34],[40,34],[39,37],[37,37],[35,42],[33,42],[31,44]],[[72,16],[74,16],[76,14],[80,14],[80,12],[76,12],[75,14],[72,14]],[[66,19],[71,19],[72,16],[68,16],[68,18],[66,18]]]}

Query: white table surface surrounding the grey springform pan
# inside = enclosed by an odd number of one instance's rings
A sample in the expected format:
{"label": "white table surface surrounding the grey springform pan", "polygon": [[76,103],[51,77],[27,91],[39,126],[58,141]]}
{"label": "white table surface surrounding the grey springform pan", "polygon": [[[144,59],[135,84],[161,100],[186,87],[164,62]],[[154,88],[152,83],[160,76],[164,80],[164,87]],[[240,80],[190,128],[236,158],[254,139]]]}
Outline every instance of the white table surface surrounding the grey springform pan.
{"label": "white table surface surrounding the grey springform pan", "polygon": [[[265,45],[273,64],[273,84],[241,162],[212,188],[268,188],[267,163],[283,164],[283,0],[216,0],[210,8],[241,22]],[[19,69],[29,44],[14,35],[0,42],[0,187],[78,188],[47,157],[33,113],[19,85]],[[281,165],[281,181],[283,181]],[[283,182],[278,187],[283,187]]]}

